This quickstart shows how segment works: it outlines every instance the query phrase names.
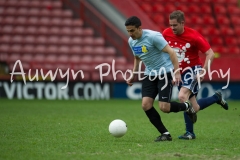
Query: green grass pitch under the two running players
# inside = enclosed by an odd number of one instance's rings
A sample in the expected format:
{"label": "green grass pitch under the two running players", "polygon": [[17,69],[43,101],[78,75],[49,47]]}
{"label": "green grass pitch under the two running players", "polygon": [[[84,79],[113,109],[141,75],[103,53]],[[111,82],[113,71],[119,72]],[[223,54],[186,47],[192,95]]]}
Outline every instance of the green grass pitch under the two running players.
{"label": "green grass pitch under the two running players", "polygon": [[[187,160],[240,159],[240,102],[228,111],[214,104],[198,113],[195,140],[184,133],[182,113],[161,114],[172,142],[153,142],[159,136],[133,100],[7,100],[0,99],[1,160]],[[108,132],[114,119],[127,123],[121,138]]]}

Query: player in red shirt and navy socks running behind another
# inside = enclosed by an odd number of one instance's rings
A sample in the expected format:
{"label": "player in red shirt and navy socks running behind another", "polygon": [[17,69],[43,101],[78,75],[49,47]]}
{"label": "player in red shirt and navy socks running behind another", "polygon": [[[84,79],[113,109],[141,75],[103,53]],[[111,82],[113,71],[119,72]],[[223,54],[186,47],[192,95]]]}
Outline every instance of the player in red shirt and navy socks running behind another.
{"label": "player in red shirt and navy socks running behind another", "polygon": [[[200,86],[198,83],[204,79],[203,75],[208,70],[208,63],[211,64],[214,59],[214,52],[204,37],[196,30],[184,26],[184,22],[184,13],[180,10],[174,11],[169,16],[170,27],[163,31],[163,37],[176,52],[179,66],[182,68],[182,84],[179,85],[178,98],[181,102],[189,100],[195,112],[203,110],[214,103],[228,110],[228,104],[219,91],[216,91],[211,97],[196,100]],[[199,51],[206,55],[203,66],[198,55]],[[186,133],[178,138],[186,140],[195,139],[193,123],[185,112],[184,119]]]}

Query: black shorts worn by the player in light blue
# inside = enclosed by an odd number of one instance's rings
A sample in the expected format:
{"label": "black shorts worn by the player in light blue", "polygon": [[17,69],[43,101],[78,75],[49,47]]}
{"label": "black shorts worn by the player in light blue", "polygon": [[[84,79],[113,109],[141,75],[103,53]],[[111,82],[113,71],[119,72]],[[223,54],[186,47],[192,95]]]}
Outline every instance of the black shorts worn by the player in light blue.
{"label": "black shorts worn by the player in light blue", "polygon": [[143,79],[142,97],[150,97],[155,99],[158,95],[159,101],[170,102],[173,88],[171,73],[168,73],[166,77],[167,80],[165,78],[159,79],[158,77],[154,79],[152,76],[147,76],[145,79]]}

